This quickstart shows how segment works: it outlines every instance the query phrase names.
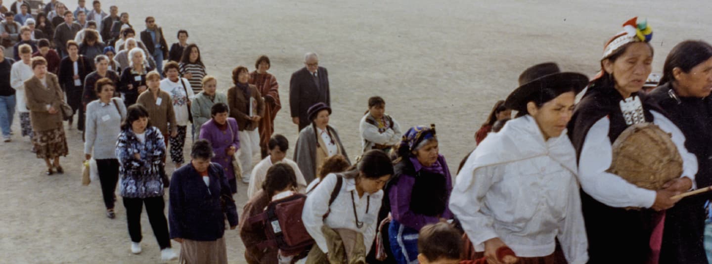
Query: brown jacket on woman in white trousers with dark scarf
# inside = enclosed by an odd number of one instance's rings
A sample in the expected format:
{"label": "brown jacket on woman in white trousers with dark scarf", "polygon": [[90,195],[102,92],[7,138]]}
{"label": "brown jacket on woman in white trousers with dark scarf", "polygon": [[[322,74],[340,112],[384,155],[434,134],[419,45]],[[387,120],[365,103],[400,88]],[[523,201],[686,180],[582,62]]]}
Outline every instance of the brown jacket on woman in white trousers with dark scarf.
{"label": "brown jacket on woman in white trousers with dark scarf", "polygon": [[[260,91],[255,85],[249,85],[249,90],[250,97],[257,100],[257,115],[263,117],[265,104]],[[227,90],[227,103],[230,107],[230,117],[237,120],[239,131],[255,130],[258,127],[259,122],[249,120],[250,101],[240,88],[233,86]]]}

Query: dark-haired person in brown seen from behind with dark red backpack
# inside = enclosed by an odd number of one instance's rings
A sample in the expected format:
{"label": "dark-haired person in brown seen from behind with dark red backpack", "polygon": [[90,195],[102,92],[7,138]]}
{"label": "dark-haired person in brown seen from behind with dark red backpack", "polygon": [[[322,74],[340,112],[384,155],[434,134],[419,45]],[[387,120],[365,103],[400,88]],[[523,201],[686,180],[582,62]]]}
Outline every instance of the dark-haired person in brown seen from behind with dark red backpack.
{"label": "dark-haired person in brown seen from behind with dark red backpack", "polygon": [[274,164],[267,170],[262,189],[257,191],[252,199],[245,204],[240,219],[240,238],[245,244],[245,260],[249,264],[277,263],[278,249],[258,247],[259,243],[266,241],[263,228],[248,223],[248,219],[265,211],[271,201],[283,199],[295,194],[298,188],[297,177],[294,169],[288,164]]}

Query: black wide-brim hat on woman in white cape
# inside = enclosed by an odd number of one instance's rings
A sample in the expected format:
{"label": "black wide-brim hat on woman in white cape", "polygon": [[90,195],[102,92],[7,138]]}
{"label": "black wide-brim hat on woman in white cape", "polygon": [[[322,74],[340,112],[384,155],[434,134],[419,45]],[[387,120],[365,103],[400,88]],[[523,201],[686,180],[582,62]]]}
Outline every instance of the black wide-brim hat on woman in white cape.
{"label": "black wide-brim hat on woman in white cape", "polygon": [[504,106],[518,112],[527,110],[527,102],[535,101],[545,88],[553,89],[557,95],[574,90],[580,93],[588,85],[588,77],[581,73],[559,70],[556,63],[533,65],[519,75],[519,87],[504,102]]}

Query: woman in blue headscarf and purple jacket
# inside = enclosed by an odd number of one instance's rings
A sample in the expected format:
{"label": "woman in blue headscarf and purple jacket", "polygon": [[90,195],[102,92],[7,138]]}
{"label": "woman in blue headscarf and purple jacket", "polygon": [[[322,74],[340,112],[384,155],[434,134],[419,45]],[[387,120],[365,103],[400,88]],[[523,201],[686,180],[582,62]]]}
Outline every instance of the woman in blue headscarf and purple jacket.
{"label": "woman in blue headscarf and purple jacket", "polygon": [[388,238],[397,262],[412,263],[418,258],[420,228],[452,218],[447,206],[452,176],[439,154],[434,125],[411,127],[399,144],[398,155],[397,178],[388,189],[392,216]]}

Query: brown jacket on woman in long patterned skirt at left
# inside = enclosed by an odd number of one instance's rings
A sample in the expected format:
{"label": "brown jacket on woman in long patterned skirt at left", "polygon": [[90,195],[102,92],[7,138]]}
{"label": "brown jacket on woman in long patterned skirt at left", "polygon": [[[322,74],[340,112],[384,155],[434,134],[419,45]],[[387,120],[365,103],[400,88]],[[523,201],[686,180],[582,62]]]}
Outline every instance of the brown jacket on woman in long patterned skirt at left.
{"label": "brown jacket on woman in long patterned skirt at left", "polygon": [[[36,76],[25,81],[24,99],[26,99],[27,107],[30,110],[32,130],[36,132],[62,127],[61,102],[64,101],[62,88],[59,86],[57,75],[47,73],[45,79],[47,86],[43,85]],[[54,107],[57,112],[50,114],[48,105]]]}

